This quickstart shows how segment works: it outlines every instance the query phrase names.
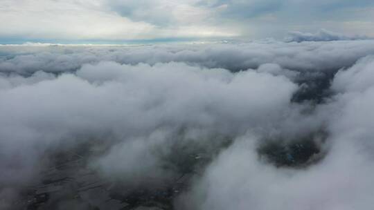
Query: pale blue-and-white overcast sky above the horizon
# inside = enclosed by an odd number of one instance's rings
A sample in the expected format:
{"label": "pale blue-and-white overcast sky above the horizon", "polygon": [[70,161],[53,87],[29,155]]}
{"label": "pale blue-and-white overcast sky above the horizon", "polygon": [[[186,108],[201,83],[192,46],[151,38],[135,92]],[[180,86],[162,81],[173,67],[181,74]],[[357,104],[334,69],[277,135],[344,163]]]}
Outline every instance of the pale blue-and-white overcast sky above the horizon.
{"label": "pale blue-and-white overcast sky above the horizon", "polygon": [[371,0],[1,0],[0,44],[374,37]]}

